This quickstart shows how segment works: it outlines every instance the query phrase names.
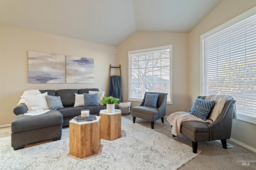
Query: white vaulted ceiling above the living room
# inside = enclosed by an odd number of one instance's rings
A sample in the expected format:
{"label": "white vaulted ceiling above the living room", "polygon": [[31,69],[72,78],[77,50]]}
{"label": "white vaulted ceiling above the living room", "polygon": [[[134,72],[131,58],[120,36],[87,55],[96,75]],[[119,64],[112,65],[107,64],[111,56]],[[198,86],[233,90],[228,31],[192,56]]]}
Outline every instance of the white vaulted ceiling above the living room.
{"label": "white vaulted ceiling above the living room", "polygon": [[189,33],[222,0],[0,0],[0,23],[118,46],[136,32]]}

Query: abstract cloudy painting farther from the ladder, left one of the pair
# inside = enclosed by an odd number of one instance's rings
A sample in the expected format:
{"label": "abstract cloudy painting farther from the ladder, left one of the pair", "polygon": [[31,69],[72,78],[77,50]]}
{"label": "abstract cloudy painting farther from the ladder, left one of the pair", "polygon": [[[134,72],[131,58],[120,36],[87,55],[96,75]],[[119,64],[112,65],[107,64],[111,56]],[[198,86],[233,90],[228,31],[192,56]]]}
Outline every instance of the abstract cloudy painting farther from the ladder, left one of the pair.
{"label": "abstract cloudy painting farther from the ladder, left one of the pair", "polygon": [[65,83],[65,55],[28,51],[28,83]]}

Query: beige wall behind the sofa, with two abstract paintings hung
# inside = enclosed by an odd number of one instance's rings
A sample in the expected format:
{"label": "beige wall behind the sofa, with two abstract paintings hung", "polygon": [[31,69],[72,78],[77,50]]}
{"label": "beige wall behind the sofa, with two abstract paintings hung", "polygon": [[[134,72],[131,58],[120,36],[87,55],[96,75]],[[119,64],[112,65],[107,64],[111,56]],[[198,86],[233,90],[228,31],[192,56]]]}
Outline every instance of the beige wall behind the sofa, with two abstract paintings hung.
{"label": "beige wall behind the sofa, with two abstract paintings hung", "polygon": [[[28,84],[28,51],[94,59],[93,84]],[[110,64],[116,47],[0,25],[0,126],[8,125],[20,95],[30,89],[99,88],[108,90]],[[107,92],[108,94],[108,92]]]}

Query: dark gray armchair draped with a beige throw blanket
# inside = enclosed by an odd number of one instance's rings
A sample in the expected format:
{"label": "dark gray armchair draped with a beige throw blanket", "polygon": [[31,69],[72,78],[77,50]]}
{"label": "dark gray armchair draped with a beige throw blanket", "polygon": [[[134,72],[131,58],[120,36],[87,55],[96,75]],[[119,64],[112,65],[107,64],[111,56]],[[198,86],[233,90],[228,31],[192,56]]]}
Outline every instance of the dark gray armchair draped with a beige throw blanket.
{"label": "dark gray armchair draped with a beige throw blanket", "polygon": [[[206,96],[198,96],[198,98],[205,100]],[[222,112],[213,123],[182,122],[180,133],[192,141],[194,153],[197,153],[198,142],[202,141],[220,140],[222,147],[227,149],[226,139],[230,139],[235,103],[236,100],[227,100]]]}

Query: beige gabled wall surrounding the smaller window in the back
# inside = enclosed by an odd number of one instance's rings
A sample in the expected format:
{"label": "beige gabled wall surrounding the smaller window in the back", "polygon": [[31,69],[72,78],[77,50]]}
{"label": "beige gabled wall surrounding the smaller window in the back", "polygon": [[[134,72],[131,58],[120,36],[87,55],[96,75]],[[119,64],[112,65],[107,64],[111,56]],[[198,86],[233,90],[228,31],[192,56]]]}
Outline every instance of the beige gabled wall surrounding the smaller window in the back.
{"label": "beige gabled wall surrounding the smaller window in the back", "polygon": [[[172,105],[166,107],[166,115],[176,111],[188,111],[188,34],[186,33],[135,33],[117,47],[117,62],[122,68],[123,99],[128,101],[128,51],[172,45]],[[140,102],[132,102],[138,106]]]}

